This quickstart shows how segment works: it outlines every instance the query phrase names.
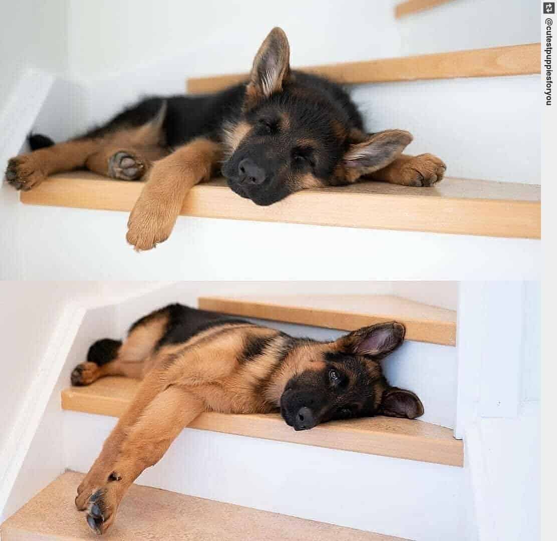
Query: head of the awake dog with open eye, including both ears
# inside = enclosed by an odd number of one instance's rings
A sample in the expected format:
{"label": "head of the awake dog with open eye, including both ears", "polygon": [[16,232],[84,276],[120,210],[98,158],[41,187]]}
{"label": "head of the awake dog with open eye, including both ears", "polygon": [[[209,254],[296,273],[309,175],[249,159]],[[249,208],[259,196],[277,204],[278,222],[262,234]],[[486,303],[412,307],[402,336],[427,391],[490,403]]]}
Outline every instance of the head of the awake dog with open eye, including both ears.
{"label": "head of the awake dog with open eye, including both ears", "polygon": [[379,364],[402,344],[404,332],[399,323],[380,323],[335,342],[302,345],[294,352],[295,373],[287,379],[280,399],[286,423],[307,430],[334,419],[423,415],[416,394],[389,386]]}

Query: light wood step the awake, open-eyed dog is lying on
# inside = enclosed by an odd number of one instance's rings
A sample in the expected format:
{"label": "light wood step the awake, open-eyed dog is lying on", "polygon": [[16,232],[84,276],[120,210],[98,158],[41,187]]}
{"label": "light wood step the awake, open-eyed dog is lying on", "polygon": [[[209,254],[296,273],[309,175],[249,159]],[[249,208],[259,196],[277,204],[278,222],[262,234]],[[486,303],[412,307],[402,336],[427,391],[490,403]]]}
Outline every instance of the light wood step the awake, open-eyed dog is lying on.
{"label": "light wood step the awake, open-eyed dog is lying on", "polygon": [[[138,386],[139,382],[134,379],[101,378],[87,387],[70,387],[62,391],[62,408],[119,417],[128,407]],[[210,412],[202,413],[189,426],[449,466],[463,464],[462,441],[453,438],[452,430],[416,420],[368,417],[333,421],[296,432],[278,413],[232,415]]]}

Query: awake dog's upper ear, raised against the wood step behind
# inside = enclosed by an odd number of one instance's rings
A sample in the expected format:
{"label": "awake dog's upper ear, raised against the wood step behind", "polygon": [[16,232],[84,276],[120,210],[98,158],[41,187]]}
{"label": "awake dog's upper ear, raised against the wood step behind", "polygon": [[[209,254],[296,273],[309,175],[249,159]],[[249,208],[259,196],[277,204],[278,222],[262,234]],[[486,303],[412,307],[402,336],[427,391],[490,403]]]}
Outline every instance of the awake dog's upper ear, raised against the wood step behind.
{"label": "awake dog's upper ear, raised against the wood step behind", "polygon": [[378,323],[362,327],[339,338],[335,348],[344,353],[382,358],[399,347],[404,341],[406,329],[402,323]]}

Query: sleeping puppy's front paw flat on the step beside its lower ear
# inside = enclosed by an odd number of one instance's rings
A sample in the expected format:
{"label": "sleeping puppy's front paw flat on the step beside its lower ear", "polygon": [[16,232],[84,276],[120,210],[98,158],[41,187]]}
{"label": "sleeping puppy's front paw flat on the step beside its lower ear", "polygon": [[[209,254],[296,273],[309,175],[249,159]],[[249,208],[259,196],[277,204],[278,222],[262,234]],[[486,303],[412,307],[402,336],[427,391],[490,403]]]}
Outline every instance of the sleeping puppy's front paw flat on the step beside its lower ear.
{"label": "sleeping puppy's front paw flat on the step beside its lower ear", "polygon": [[433,154],[401,154],[387,167],[375,171],[367,178],[402,186],[433,186],[442,180],[446,168],[442,160]]}

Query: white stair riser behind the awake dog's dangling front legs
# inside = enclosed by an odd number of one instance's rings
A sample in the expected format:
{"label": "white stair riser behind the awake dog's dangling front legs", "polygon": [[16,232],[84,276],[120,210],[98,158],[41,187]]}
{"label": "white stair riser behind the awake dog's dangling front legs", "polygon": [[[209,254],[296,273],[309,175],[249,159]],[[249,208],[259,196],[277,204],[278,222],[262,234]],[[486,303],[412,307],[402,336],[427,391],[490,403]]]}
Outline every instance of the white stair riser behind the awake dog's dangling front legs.
{"label": "white stair riser behind the awake dog's dangling front legs", "polygon": [[[86,472],[116,420],[64,417],[66,467]],[[465,539],[464,470],[453,466],[187,428],[138,482],[421,541]]]}

